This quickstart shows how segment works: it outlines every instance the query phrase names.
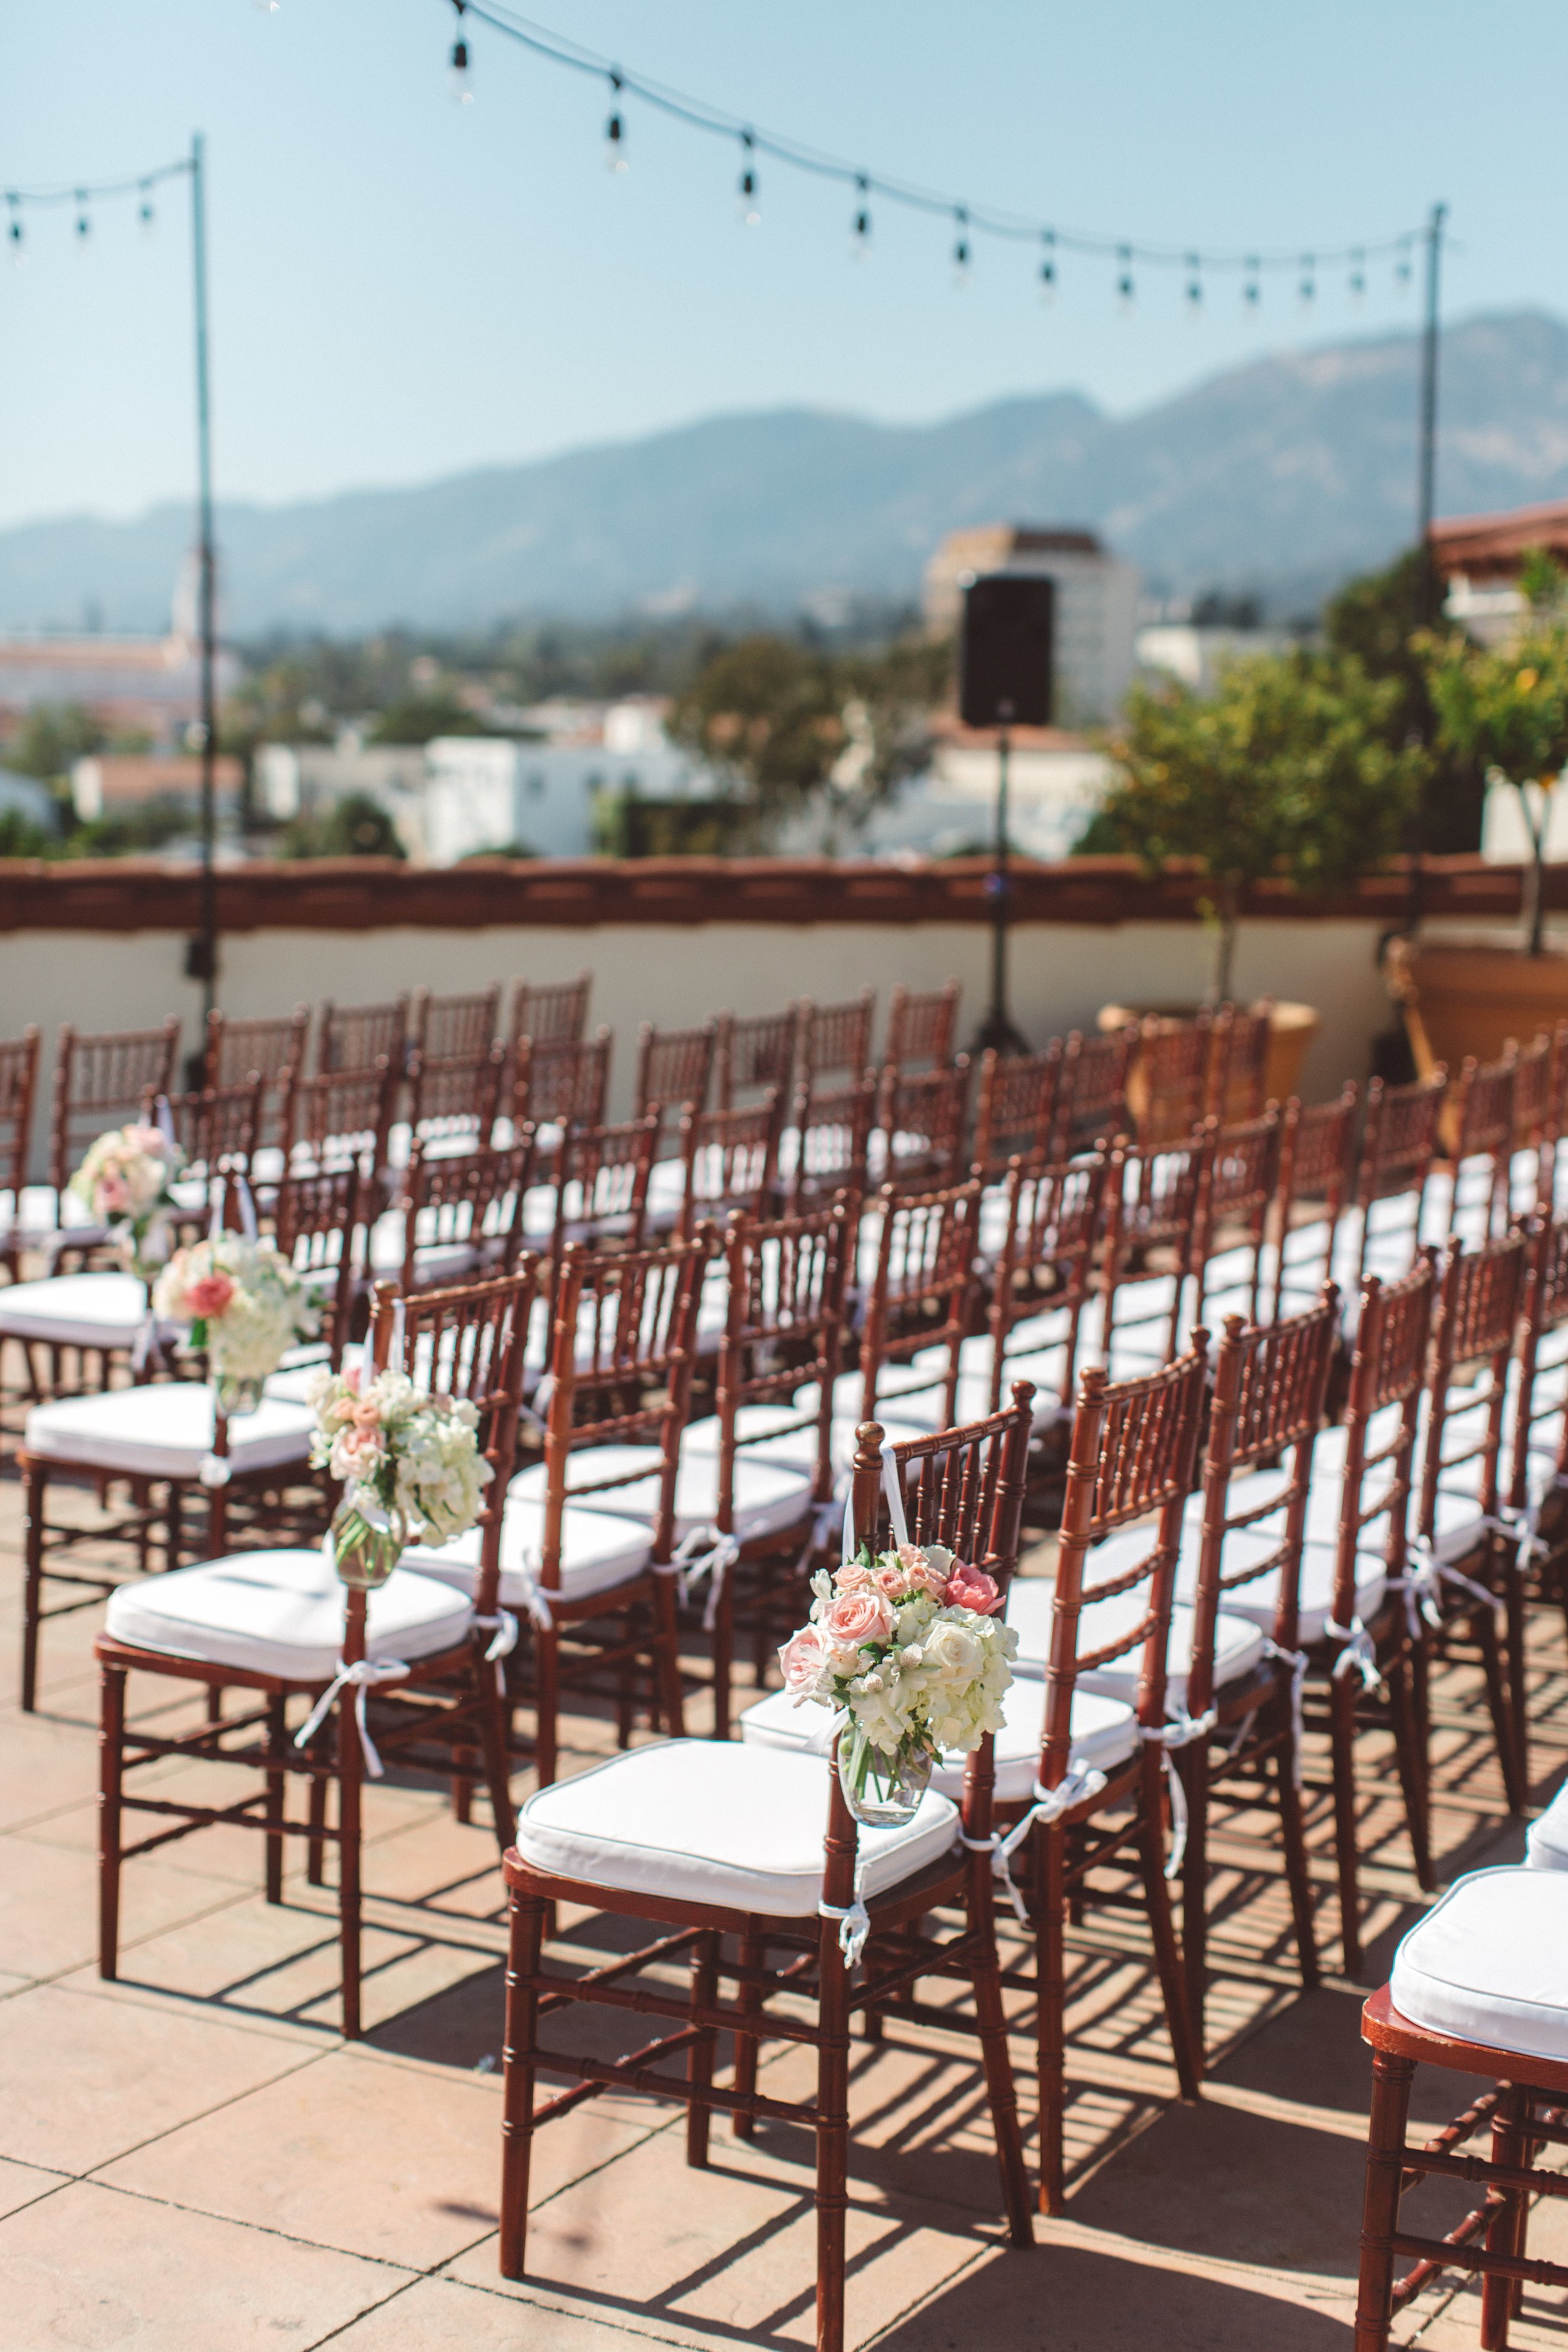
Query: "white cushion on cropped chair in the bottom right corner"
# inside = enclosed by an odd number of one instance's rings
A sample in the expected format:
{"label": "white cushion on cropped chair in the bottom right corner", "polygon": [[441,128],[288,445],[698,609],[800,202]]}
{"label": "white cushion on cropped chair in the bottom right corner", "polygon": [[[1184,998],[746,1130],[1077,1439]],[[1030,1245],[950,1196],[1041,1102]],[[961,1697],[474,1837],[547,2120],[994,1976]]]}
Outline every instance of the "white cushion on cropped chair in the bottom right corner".
{"label": "white cushion on cropped chair in the bottom right corner", "polygon": [[1568,2060],[1568,1875],[1472,1870],[1394,1955],[1389,1994],[1410,2025]]}

